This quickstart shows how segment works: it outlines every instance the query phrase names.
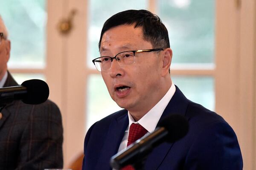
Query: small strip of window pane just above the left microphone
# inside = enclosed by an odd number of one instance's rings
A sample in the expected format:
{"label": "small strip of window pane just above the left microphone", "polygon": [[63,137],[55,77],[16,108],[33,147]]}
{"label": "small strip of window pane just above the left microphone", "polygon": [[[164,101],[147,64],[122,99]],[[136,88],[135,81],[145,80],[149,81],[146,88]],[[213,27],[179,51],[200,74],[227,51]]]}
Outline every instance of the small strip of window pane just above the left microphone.
{"label": "small strip of window pane just above the left microphone", "polygon": [[19,85],[29,79],[41,79],[45,81],[43,74],[12,73],[12,76]]}

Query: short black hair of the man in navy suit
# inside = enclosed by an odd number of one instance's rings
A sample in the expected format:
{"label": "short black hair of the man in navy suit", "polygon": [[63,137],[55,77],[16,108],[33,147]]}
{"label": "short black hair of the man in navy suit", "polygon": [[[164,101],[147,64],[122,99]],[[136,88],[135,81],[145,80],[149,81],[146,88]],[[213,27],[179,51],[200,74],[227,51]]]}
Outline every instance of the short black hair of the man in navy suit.
{"label": "short black hair of the man in navy suit", "polygon": [[127,10],[114,14],[103,25],[99,39],[99,48],[103,34],[109,29],[120,25],[141,27],[144,40],[150,42],[153,48],[169,48],[169,36],[160,18],[147,10]]}

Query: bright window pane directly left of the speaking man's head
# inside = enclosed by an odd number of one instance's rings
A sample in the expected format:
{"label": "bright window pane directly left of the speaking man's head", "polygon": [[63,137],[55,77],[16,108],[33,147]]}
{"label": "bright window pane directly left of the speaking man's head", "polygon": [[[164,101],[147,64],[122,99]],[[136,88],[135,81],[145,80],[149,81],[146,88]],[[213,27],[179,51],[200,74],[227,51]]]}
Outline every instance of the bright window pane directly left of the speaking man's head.
{"label": "bright window pane directly left of the speaking man's head", "polygon": [[88,31],[88,52],[87,65],[95,68],[92,60],[99,57],[98,42],[102,26],[105,21],[121,11],[128,9],[145,9],[148,0],[90,0],[89,4],[89,31]]}

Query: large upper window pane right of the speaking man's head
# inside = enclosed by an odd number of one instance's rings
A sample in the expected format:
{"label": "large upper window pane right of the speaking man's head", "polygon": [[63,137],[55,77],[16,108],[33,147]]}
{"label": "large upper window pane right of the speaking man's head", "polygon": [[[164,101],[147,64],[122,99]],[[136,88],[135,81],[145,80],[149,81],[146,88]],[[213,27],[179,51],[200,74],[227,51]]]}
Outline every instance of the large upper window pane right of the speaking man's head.
{"label": "large upper window pane right of the speaking man's head", "polygon": [[213,63],[215,0],[159,0],[169,32],[172,63]]}

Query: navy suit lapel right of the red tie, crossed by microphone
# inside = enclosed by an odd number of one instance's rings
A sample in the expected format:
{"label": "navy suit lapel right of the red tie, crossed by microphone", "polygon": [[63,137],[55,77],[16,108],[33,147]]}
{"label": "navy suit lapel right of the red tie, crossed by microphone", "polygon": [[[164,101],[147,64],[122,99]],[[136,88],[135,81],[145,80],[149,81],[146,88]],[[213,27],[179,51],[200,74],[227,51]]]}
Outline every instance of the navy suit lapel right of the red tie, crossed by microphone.
{"label": "navy suit lapel right of the red tie, crossed by microphone", "polygon": [[[163,111],[160,121],[170,114],[180,114],[185,116],[187,105],[188,99],[186,99],[180,89],[176,86],[175,94],[172,96],[172,99]],[[151,154],[148,155],[145,162],[145,169],[157,170],[168,154],[169,150],[172,148],[172,145],[173,143],[164,142],[156,147]]]}

